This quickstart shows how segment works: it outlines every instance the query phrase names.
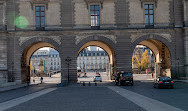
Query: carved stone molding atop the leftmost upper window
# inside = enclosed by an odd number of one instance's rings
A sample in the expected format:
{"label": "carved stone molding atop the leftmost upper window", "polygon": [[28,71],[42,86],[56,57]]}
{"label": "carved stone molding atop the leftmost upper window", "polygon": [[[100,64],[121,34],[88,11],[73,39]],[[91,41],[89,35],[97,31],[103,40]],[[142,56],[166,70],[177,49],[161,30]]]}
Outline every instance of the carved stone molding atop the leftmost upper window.
{"label": "carved stone molding atop the leftmost upper window", "polygon": [[34,9],[35,4],[37,4],[37,5],[43,5],[44,4],[46,9],[48,9],[49,0],[32,0],[30,3],[31,3],[32,10]]}

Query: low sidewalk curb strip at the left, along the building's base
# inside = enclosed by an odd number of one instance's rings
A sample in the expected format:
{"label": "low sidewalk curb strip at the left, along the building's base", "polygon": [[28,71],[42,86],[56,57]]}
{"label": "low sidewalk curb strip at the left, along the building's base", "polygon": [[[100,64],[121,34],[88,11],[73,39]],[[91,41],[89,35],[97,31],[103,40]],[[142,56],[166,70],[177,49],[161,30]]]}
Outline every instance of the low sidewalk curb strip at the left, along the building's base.
{"label": "low sidewalk curb strip at the left, along the building's base", "polygon": [[[31,84],[29,86],[34,86],[34,85],[39,85],[39,84]],[[9,86],[9,87],[2,87],[0,88],[0,93],[23,88],[23,87],[27,87],[27,84],[19,84],[19,85],[14,85],[14,86]]]}

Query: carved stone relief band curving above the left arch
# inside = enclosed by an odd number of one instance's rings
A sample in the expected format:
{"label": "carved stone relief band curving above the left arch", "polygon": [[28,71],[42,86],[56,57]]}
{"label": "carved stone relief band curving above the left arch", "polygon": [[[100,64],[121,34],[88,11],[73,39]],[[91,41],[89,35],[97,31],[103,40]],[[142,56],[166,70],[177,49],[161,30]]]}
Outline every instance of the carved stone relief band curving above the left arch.
{"label": "carved stone relief band curving above the left arch", "polygon": [[[22,44],[24,44],[25,42],[27,42],[28,40],[30,40],[32,38],[37,38],[37,42],[38,42],[38,41],[42,41],[43,38],[45,38],[45,37],[38,37],[38,36],[20,37],[19,38],[19,45],[21,46]],[[47,38],[50,38],[50,39],[56,41],[59,45],[61,45],[61,37],[59,37],[59,36],[50,36],[50,37],[47,37]]]}

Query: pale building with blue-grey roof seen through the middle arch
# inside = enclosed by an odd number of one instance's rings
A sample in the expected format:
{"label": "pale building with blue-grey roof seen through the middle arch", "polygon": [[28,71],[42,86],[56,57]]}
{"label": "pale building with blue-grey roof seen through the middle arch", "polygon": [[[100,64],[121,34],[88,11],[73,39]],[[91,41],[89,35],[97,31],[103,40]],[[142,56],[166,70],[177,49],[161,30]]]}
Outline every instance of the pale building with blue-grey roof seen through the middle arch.
{"label": "pale building with blue-grey roof seen through the middle arch", "polygon": [[107,72],[109,68],[109,57],[104,50],[96,46],[82,50],[77,58],[77,67],[82,72]]}

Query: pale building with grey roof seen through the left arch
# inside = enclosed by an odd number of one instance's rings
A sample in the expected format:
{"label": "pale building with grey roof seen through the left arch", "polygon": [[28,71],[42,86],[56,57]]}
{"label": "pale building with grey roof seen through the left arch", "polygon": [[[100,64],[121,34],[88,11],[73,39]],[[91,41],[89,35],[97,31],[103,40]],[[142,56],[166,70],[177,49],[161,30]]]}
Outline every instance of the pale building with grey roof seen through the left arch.
{"label": "pale building with grey roof seen through the left arch", "polygon": [[39,70],[40,60],[43,61],[45,73],[61,70],[59,53],[54,49],[37,50],[31,57],[33,70]]}

